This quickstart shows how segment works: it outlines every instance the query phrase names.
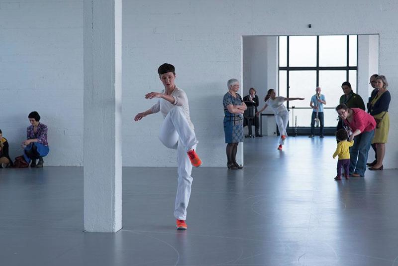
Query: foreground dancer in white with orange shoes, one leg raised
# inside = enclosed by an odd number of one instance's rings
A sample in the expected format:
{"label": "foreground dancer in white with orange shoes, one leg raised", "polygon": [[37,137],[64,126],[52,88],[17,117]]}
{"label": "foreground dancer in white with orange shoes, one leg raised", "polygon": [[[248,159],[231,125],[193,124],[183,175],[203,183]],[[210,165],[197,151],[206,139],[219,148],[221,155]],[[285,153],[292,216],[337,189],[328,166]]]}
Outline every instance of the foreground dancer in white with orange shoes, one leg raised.
{"label": "foreground dancer in white with orange shoes, one leg raised", "polygon": [[158,68],[158,73],[165,89],[161,93],[150,92],[145,95],[145,99],[159,98],[159,100],[147,111],[138,113],[134,121],[140,121],[147,115],[159,111],[165,118],[160,128],[159,139],[166,147],[177,149],[178,187],[174,216],[177,218],[177,229],[185,230],[193,181],[192,166],[201,165],[201,160],[195,152],[198,140],[190,118],[187,95],[174,83],[176,78],[174,66],[165,63]]}

